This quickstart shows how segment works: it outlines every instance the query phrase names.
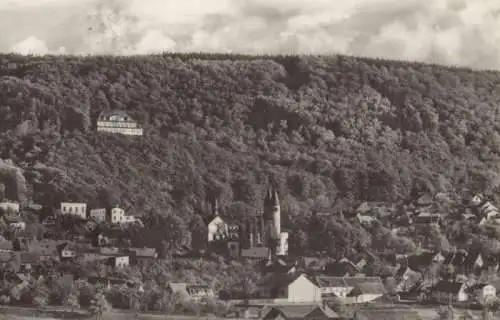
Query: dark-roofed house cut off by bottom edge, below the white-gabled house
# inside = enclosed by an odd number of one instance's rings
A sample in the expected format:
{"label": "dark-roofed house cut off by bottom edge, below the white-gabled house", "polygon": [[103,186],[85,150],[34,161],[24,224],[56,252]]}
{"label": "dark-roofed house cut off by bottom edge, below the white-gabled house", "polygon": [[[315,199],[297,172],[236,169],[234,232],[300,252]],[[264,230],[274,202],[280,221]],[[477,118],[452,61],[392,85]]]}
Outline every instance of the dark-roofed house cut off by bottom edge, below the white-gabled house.
{"label": "dark-roofed house cut off by bottom edge, below the white-gabled house", "polygon": [[313,320],[313,319],[340,319],[332,309],[326,305],[282,305],[272,306],[263,312],[262,320]]}

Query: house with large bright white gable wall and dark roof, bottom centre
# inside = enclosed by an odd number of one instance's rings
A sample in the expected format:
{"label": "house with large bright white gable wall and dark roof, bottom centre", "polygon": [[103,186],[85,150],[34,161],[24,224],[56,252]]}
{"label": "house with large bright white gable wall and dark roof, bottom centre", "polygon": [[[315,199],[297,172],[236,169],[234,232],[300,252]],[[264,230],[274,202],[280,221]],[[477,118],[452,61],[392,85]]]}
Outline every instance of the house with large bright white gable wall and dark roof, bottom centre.
{"label": "house with large bright white gable wall and dark roof, bottom centre", "polygon": [[258,283],[261,299],[282,303],[316,303],[321,301],[318,285],[306,274],[269,274]]}

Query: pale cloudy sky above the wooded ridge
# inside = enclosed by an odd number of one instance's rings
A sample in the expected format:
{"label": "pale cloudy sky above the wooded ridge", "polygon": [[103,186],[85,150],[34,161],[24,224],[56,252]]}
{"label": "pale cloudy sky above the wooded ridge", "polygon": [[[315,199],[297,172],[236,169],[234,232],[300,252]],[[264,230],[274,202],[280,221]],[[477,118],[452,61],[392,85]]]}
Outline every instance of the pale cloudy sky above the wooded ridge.
{"label": "pale cloudy sky above the wooded ridge", "polygon": [[500,70],[500,0],[0,0],[0,32],[0,52],[22,54],[339,53]]}

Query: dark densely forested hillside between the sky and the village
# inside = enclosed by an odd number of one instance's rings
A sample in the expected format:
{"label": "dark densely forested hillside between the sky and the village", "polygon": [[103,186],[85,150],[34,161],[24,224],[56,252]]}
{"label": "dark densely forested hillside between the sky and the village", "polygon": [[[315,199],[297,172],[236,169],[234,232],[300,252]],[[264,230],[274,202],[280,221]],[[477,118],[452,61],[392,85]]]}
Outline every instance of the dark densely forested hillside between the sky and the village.
{"label": "dark densely forested hillside between the sky and the village", "polygon": [[[293,221],[422,191],[498,197],[500,73],[345,56],[0,56],[9,198],[121,203],[189,217],[261,208]],[[98,134],[107,109],[143,137]],[[24,170],[27,187],[9,175]],[[16,181],[18,183],[16,183]]]}

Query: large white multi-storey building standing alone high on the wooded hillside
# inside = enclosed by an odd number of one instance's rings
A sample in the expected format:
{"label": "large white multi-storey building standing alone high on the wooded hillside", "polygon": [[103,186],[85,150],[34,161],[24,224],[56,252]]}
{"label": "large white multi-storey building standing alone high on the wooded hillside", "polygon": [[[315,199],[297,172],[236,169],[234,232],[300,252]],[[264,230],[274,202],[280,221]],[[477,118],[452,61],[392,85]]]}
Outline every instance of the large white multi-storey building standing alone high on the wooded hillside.
{"label": "large white multi-storey building standing alone high on the wooded hillside", "polygon": [[142,136],[143,129],[125,111],[104,111],[97,118],[97,131]]}

